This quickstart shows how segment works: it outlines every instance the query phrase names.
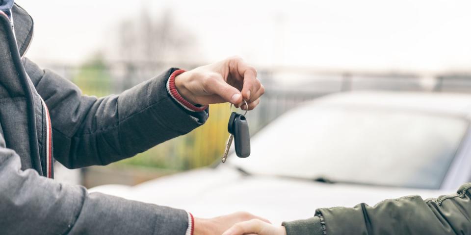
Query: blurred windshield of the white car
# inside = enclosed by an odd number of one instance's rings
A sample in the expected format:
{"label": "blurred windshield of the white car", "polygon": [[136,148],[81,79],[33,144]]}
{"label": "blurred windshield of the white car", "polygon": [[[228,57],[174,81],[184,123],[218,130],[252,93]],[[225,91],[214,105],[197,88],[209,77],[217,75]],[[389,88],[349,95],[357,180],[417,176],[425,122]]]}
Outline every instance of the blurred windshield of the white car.
{"label": "blurred windshield of the white car", "polygon": [[262,129],[249,158],[229,160],[252,174],[436,189],[468,124],[425,112],[310,104]]}

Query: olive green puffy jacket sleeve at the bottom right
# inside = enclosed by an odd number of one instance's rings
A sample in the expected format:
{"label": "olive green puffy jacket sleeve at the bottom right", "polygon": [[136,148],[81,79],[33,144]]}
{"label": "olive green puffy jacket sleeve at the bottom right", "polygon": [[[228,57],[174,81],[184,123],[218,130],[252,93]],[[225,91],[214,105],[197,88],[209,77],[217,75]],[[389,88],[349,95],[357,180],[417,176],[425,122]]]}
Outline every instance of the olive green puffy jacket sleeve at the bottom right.
{"label": "olive green puffy jacket sleeve at the bottom right", "polygon": [[467,183],[457,193],[436,199],[422,200],[420,196],[407,196],[385,200],[373,207],[362,203],[354,208],[318,209],[318,223],[310,219],[285,222],[284,225],[287,231],[292,231],[288,235],[300,235],[298,231],[302,231],[306,224],[314,226],[316,231],[324,225],[327,235],[471,234],[470,188],[471,183]]}

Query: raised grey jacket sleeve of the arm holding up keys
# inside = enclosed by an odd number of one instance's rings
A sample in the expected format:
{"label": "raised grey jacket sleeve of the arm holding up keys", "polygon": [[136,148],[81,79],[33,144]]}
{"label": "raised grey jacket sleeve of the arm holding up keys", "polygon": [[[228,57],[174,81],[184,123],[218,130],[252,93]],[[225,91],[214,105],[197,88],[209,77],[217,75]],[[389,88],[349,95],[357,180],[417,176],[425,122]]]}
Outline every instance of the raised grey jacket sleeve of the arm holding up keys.
{"label": "raised grey jacket sleeve of the arm holding up keys", "polygon": [[186,134],[208,118],[186,114],[167,93],[175,69],[119,95],[82,95],[72,82],[23,59],[26,72],[45,100],[52,122],[54,157],[69,168],[104,165],[134,156]]}

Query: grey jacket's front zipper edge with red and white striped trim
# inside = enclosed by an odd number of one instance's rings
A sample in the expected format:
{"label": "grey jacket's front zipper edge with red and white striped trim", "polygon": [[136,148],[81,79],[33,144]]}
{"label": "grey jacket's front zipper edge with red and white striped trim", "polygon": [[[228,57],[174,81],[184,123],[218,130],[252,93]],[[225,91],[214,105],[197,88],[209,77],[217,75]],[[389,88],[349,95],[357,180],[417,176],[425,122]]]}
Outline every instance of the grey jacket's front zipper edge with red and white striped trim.
{"label": "grey jacket's front zipper edge with red and white striped trim", "polygon": [[[28,78],[26,75],[25,68],[23,67],[23,63],[21,62],[21,56],[18,49],[18,45],[16,43],[15,33],[13,32],[13,25],[10,22],[10,19],[4,14],[0,14],[9,25],[5,28],[8,28],[6,31],[6,37],[8,40],[8,46],[10,47],[10,54],[15,65],[15,69],[18,72],[18,76],[20,77],[21,86],[26,94],[26,106],[27,106],[27,118],[28,118],[28,134],[29,134],[29,150],[31,155],[31,163],[33,168],[42,176],[44,176],[43,171],[41,169],[41,156],[39,154],[39,146],[37,141],[37,131],[36,131],[36,119],[35,119],[35,112],[34,112],[34,100],[33,94],[31,92],[31,88],[29,87]],[[3,22],[6,24],[5,22]]]}

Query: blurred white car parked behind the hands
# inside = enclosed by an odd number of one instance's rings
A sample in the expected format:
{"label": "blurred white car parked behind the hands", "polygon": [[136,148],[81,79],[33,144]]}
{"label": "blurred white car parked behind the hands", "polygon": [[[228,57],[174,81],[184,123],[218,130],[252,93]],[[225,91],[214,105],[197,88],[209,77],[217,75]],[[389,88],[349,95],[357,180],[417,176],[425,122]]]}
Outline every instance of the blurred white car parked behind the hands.
{"label": "blurred white car parked behind the hands", "polygon": [[471,179],[471,95],[332,94],[290,110],[213,168],[92,188],[198,217],[249,211],[273,223],[316,208],[448,194]]}

